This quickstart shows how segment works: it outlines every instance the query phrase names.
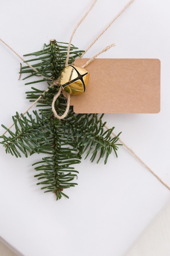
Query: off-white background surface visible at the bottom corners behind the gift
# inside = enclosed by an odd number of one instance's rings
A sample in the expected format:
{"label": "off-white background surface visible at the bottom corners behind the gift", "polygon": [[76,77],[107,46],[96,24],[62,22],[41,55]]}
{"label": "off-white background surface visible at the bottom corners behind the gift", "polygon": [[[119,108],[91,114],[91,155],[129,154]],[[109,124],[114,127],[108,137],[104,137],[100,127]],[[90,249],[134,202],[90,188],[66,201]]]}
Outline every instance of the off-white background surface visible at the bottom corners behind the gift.
{"label": "off-white background surface visible at the bottom corners behind the gift", "polygon": [[[15,256],[0,242],[0,256]],[[169,256],[170,255],[170,205],[148,227],[145,234],[126,256]]]}

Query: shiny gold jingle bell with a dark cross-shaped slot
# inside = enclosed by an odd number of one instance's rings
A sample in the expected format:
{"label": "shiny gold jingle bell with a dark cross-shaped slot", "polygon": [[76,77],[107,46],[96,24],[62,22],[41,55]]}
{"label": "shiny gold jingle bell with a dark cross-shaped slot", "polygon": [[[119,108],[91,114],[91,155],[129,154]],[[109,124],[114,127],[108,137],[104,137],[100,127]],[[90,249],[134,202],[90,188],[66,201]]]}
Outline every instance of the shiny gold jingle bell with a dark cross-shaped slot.
{"label": "shiny gold jingle bell with a dark cross-shaped slot", "polygon": [[82,67],[68,65],[60,75],[60,85],[69,94],[82,94],[87,86],[89,73]]}

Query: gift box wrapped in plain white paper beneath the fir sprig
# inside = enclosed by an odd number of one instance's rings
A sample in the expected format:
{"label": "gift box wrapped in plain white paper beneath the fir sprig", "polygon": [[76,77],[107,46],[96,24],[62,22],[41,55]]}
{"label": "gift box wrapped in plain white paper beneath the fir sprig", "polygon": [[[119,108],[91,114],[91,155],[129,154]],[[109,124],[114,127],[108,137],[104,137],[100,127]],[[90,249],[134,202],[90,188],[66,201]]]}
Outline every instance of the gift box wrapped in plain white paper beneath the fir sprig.
{"label": "gift box wrapped in plain white paper beneath the fir sprig", "polygon": [[[68,42],[91,1],[1,2],[1,38],[21,56],[55,38]],[[168,1],[164,2],[168,6]],[[127,4],[98,0],[77,29],[72,43],[86,47]],[[116,46],[100,58],[157,58],[161,61],[159,113],[105,114],[109,128],[170,186],[169,15],[162,3],[135,0],[86,53],[91,58],[106,45]],[[21,60],[2,43],[0,122],[9,127],[15,112],[29,106],[29,85],[18,80]],[[40,85],[39,85],[40,86]],[[116,93],[116,92],[115,92]],[[107,101],[107,99],[106,99]],[[3,128],[0,128],[1,134]],[[0,239],[18,255],[123,256],[170,200],[170,191],[125,146],[107,164],[90,157],[75,165],[78,186],[69,199],[36,186],[31,166],[41,156],[16,159],[0,147]]]}

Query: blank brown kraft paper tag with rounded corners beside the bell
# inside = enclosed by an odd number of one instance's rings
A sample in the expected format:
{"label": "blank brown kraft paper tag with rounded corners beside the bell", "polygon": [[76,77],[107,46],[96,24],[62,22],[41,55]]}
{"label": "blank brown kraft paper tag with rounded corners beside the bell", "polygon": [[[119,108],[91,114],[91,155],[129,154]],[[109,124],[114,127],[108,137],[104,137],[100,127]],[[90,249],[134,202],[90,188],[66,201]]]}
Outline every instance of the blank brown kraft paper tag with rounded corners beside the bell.
{"label": "blank brown kraft paper tag with rounded corners beside the bell", "polygon": [[[75,60],[81,67],[86,58]],[[86,69],[86,91],[71,95],[75,113],[158,113],[160,61],[158,59],[97,58]]]}

